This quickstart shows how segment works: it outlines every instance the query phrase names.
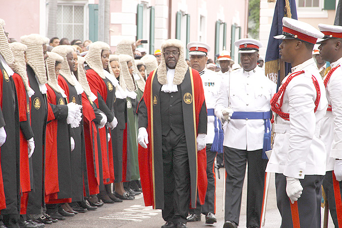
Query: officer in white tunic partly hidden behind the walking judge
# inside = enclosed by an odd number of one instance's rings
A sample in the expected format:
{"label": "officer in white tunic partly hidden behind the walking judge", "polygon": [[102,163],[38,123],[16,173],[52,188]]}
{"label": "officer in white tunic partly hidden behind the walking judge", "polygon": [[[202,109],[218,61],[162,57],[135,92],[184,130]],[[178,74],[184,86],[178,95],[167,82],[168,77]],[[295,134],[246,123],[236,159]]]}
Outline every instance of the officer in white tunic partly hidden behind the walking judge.
{"label": "officer in white tunic partly hidden behind the walking judge", "polygon": [[[223,139],[223,130],[221,121],[214,115],[214,107],[218,97],[218,92],[221,83],[221,76],[212,70],[206,69],[206,61],[208,60],[207,53],[210,51],[210,47],[202,42],[190,42],[187,45],[190,55],[190,65],[193,69],[199,71],[199,75],[202,79],[204,88],[204,97],[207,108],[207,135],[205,137],[206,143],[206,156],[207,167],[206,173],[208,178],[208,187],[205,195],[205,202],[200,205],[199,199],[197,200],[196,209],[190,209],[190,215],[188,216],[188,222],[197,222],[201,219],[201,213],[205,215],[205,223],[216,223],[215,217],[215,183],[216,176],[214,171],[214,162],[216,154],[219,150],[219,137],[221,129],[221,138]],[[215,131],[216,129],[216,131]],[[215,142],[214,142],[215,139]],[[214,145],[213,145],[214,142]],[[222,141],[221,141],[221,153]]]}

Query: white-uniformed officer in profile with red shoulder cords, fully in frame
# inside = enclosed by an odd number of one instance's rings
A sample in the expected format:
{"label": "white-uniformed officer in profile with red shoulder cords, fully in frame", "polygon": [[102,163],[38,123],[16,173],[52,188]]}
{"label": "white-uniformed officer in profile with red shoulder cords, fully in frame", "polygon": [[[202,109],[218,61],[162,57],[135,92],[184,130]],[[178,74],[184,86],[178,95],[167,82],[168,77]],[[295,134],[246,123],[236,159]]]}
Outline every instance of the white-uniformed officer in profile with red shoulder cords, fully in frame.
{"label": "white-uniformed officer in profile with red shoulder cords, fully in frame", "polygon": [[276,173],[281,227],[320,228],[321,185],[326,168],[324,143],[318,139],[327,110],[323,80],[312,57],[317,38],[311,25],[283,18],[281,59],[291,63],[271,100],[274,144],[266,171]]}

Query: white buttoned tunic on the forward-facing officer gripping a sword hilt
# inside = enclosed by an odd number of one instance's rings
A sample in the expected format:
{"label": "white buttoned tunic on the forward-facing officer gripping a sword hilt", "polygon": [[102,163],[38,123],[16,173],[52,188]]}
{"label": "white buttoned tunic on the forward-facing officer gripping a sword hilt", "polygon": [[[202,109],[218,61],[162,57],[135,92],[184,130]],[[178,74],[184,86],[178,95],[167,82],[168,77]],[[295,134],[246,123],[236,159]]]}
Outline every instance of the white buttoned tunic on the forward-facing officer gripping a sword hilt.
{"label": "white buttoned tunic on the forward-facing officer gripping a sword hilt", "polygon": [[[222,109],[228,106],[234,112],[268,112],[276,87],[258,66],[249,72],[242,68],[233,71],[230,74],[230,93],[229,77],[221,83],[215,114],[221,119]],[[262,149],[264,133],[263,119],[231,119],[225,128],[223,145],[249,151]]]}

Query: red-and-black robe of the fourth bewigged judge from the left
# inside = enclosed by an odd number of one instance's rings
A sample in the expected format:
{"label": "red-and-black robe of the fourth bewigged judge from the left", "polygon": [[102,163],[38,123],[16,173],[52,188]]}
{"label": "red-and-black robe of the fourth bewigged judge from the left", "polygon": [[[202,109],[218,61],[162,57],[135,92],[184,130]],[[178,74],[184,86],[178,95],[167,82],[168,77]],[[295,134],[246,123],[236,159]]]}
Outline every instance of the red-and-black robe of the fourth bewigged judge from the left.
{"label": "red-and-black robe of the fourth bewigged judge from the left", "polygon": [[45,201],[71,202],[70,129],[66,98],[48,88],[48,124],[46,127]]}

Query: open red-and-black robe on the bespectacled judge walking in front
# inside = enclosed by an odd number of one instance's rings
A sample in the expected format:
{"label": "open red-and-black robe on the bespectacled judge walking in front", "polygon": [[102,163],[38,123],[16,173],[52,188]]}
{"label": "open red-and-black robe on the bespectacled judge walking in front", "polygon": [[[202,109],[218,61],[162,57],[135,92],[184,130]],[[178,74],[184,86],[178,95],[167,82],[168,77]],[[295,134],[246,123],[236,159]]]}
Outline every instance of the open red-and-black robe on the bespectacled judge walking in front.
{"label": "open red-and-black robe on the bespectacled judge walking in front", "polygon": [[[153,85],[153,86],[152,86]],[[148,144],[147,148],[139,145],[139,169],[142,182],[142,191],[145,206],[164,208],[163,158],[162,158],[162,130],[159,93],[161,89],[157,79],[157,70],[147,78],[145,90],[141,100],[145,103],[148,117]],[[201,110],[205,109],[204,90],[199,72],[187,70],[183,82],[180,84],[182,92],[182,110],[184,129],[189,154],[191,180],[191,207],[196,207],[197,190],[201,204],[204,203],[207,189],[206,152],[205,148],[197,151],[196,138],[199,129]],[[140,106],[139,106],[140,109]],[[204,123],[202,123],[204,124]]]}

